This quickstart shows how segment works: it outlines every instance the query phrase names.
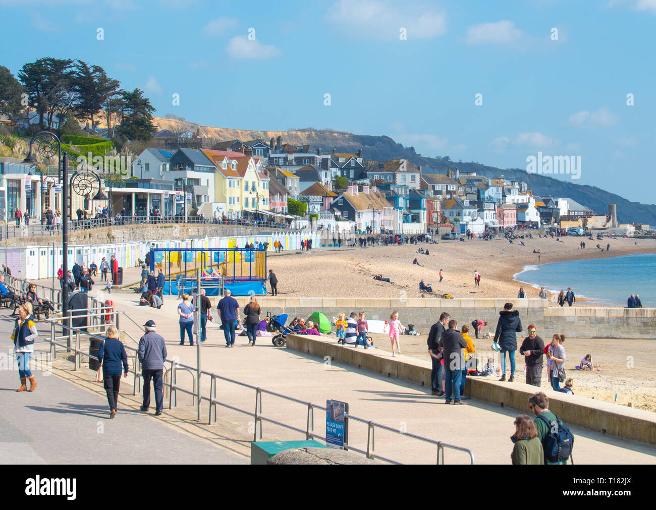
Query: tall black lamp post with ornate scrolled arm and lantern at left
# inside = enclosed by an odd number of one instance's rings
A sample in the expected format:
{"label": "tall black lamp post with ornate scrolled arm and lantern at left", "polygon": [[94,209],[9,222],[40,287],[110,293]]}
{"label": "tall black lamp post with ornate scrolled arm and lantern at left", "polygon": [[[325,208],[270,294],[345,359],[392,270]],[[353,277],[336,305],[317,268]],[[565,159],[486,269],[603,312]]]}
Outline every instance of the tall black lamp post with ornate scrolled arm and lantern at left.
{"label": "tall black lamp post with ornate scrolled arm and lantern at left", "polygon": [[[32,153],[33,145],[36,144],[39,154],[50,159],[55,153],[58,154],[59,182],[62,183],[62,264],[64,281],[62,284],[62,317],[64,324],[68,324],[68,218],[70,217],[70,203],[68,197],[68,153],[64,152],[62,157],[62,142],[52,131],[39,131],[30,140],[30,152],[23,163],[28,165],[38,164]],[[68,337],[70,339],[70,336]],[[70,347],[70,340],[67,342]]]}

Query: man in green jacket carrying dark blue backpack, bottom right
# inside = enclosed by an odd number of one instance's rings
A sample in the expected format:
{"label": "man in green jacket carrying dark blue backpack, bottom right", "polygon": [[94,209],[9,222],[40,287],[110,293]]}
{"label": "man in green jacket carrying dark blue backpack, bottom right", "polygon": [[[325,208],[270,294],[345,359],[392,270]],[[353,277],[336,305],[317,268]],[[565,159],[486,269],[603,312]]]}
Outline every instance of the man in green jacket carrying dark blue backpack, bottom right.
{"label": "man in green jacket carrying dark blue backpack, bottom right", "polygon": [[545,464],[567,464],[574,446],[574,436],[560,418],[549,410],[549,398],[540,391],[529,398],[535,414],[537,437],[542,442]]}

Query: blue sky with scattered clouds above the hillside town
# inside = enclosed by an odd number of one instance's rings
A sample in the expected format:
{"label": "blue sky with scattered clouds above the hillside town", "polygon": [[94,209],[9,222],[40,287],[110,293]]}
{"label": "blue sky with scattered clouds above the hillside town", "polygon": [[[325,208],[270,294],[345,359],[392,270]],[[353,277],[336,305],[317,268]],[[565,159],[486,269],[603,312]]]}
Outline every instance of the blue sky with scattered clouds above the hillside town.
{"label": "blue sky with scattered clouds above the hillside town", "polygon": [[526,168],[538,151],[581,156],[578,184],[656,202],[645,186],[656,170],[656,0],[0,0],[0,9],[16,20],[5,40],[21,41],[2,62],[14,73],[43,56],[79,58],[143,88],[157,115],[201,125],[386,134],[423,155],[501,168]]}

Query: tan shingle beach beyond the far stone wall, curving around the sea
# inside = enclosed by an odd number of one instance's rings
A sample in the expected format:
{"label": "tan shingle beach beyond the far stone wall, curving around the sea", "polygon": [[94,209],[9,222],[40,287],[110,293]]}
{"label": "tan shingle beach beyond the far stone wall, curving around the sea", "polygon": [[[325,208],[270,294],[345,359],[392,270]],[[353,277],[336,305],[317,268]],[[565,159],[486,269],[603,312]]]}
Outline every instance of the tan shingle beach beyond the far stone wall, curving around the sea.
{"label": "tan shingle beach beyond the far stone wall, curving around the sea", "polygon": [[[584,237],[518,239],[512,245],[506,239],[492,241],[442,241],[438,245],[375,246],[369,248],[335,248],[315,250],[311,254],[295,252],[272,256],[267,264],[278,278],[281,296],[288,297],[371,297],[419,298],[419,281],[432,284],[434,294],[451,294],[454,298],[516,298],[520,283],[513,276],[526,265],[547,264],[590,258],[656,252],[656,239],[604,239],[590,241]],[[587,247],[579,249],[586,241]],[[635,243],[638,243],[636,246]],[[609,243],[611,250],[602,252],[597,243]],[[428,249],[430,255],[417,253]],[[533,250],[541,251],[541,260]],[[412,264],[417,258],[419,265]],[[443,281],[439,272],[443,271]],[[480,286],[474,286],[474,271],[481,273]],[[376,281],[382,274],[392,283]],[[527,297],[537,298],[538,290],[524,286]],[[584,302],[577,294],[577,303]],[[550,305],[556,306],[556,295],[549,294]]]}

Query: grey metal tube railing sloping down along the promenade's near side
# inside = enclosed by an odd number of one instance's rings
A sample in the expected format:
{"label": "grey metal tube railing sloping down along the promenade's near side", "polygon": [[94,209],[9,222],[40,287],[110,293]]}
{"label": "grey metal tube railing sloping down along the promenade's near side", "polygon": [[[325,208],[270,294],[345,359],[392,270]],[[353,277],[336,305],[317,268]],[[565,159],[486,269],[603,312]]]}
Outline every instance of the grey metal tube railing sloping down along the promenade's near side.
{"label": "grey metal tube railing sloping down along the promenade's near side", "polygon": [[[126,315],[129,317],[129,315],[125,314],[123,311],[115,311],[115,312],[108,312],[108,313],[89,313],[86,315],[86,317],[93,317],[94,315],[112,315],[115,317],[115,322],[117,325],[118,329],[118,317],[119,315]],[[73,316],[75,317],[75,316]],[[85,317],[85,316],[78,316],[78,317]],[[131,319],[131,317],[129,317]],[[131,319],[132,320],[132,319]],[[86,335],[89,336],[89,338],[95,338],[98,340],[104,340],[104,337],[99,336],[97,334],[93,334],[90,332],[87,332],[81,328],[73,328],[71,326],[67,326],[66,324],[63,324],[62,318],[58,319],[49,319],[48,322],[51,323],[51,355],[52,359],[56,358],[56,347],[63,347],[64,349],[67,349],[67,351],[73,351],[75,353],[74,357],[74,368],[73,370],[77,370],[81,366],[81,356],[86,356],[89,359],[95,359],[98,361],[98,358],[89,354],[81,351],[80,349],[80,336],[81,335]],[[133,323],[135,323],[133,321]],[[136,324],[136,323],[135,323]],[[62,336],[56,336],[55,334],[55,329],[56,326],[60,325],[64,330],[68,331],[68,335],[62,335]],[[91,326],[89,326],[91,328]],[[120,332],[120,330],[119,330]],[[130,337],[132,338],[132,337]],[[58,343],[57,340],[68,340],[67,344],[63,343]],[[74,341],[73,341],[74,340]],[[136,395],[136,391],[140,391],[140,363],[138,359],[138,352],[137,349],[134,349],[133,347],[130,347],[128,345],[125,346],[125,349],[133,352],[133,355],[131,356],[131,359],[133,359],[133,370],[129,370],[129,372],[134,374],[134,384],[133,384],[133,395]],[[182,391],[182,393],[186,393],[188,395],[192,395],[192,404],[194,402],[195,397],[197,396],[196,388],[197,385],[200,384],[200,380],[197,376],[197,374],[207,376],[210,378],[210,391],[209,391],[209,397],[204,397],[201,396],[200,400],[205,401],[208,403],[208,416],[207,416],[207,424],[211,425],[213,422],[216,422],[216,406],[222,406],[223,408],[227,408],[230,410],[233,410],[235,412],[239,412],[241,414],[245,414],[246,416],[252,416],[254,423],[255,423],[255,430],[253,433],[253,441],[261,441],[262,440],[262,423],[272,423],[273,425],[278,425],[279,427],[283,427],[285,429],[289,429],[291,431],[295,431],[297,433],[305,435],[306,439],[321,439],[322,441],[325,441],[325,437],[314,431],[314,410],[318,409],[320,412],[325,412],[325,406],[319,405],[319,404],[314,404],[312,402],[306,402],[302,401],[300,399],[296,399],[294,397],[289,397],[288,395],[282,395],[281,393],[276,393],[275,391],[270,391],[268,389],[264,389],[259,386],[255,386],[252,384],[244,383],[241,381],[237,381],[234,379],[230,379],[224,376],[220,376],[218,374],[215,374],[214,372],[207,372],[205,370],[197,370],[197,368],[193,366],[188,366],[182,363],[178,363],[174,360],[169,360],[165,359],[164,363],[166,364],[171,364],[170,368],[167,368],[165,370],[164,378],[163,378],[163,383],[164,386],[167,388],[167,395],[169,397],[169,409],[172,409],[177,406],[177,400],[176,400],[176,393],[178,391]],[[185,372],[189,372],[192,374],[192,386],[193,390],[190,391],[184,387],[181,387],[178,385],[176,381],[176,374],[178,370],[184,370]],[[167,381],[167,376],[170,374],[171,380]],[[234,406],[232,404],[229,404],[228,402],[222,402],[216,398],[216,387],[217,381],[222,381],[222,382],[227,382],[227,383],[232,383],[235,385],[238,385],[239,387],[247,388],[247,389],[252,389],[255,391],[255,410],[247,410],[247,409],[242,409],[237,406]],[[270,416],[266,416],[262,412],[262,395],[270,395],[272,397],[276,397],[279,399],[283,399],[285,401],[289,402],[295,402],[299,405],[304,406],[306,408],[306,427],[304,429],[300,427],[296,427],[294,425],[291,425],[289,423],[281,422],[279,420],[275,420],[274,418]],[[437,447],[437,454],[436,454],[436,463],[438,464],[443,464],[444,463],[444,450],[445,449],[451,449],[451,450],[457,450],[461,452],[465,452],[466,454],[469,455],[470,457],[470,463],[474,464],[474,453],[472,450],[468,448],[464,448],[462,446],[455,446],[453,444],[448,444],[442,441],[436,441],[434,439],[429,439],[427,437],[423,437],[417,434],[413,433],[408,433],[408,432],[403,432],[398,429],[394,429],[393,427],[388,427],[388,425],[383,425],[382,423],[377,423],[373,422],[371,420],[365,420],[364,418],[359,418],[358,416],[353,416],[351,414],[346,414],[344,416],[345,420],[348,421],[353,421],[353,422],[358,422],[358,423],[365,423],[367,425],[367,448],[366,449],[361,449],[358,448],[357,446],[354,446],[353,444],[346,444],[344,445],[348,450],[352,450],[354,452],[358,452],[359,454],[363,454],[367,456],[367,458],[371,460],[381,460],[385,461],[388,463],[394,463],[394,464],[399,464],[399,461],[393,460],[391,458],[384,457],[382,455],[379,455],[376,453],[375,450],[375,432],[377,429],[389,431],[392,433],[396,433],[397,435],[401,435],[403,437],[408,437],[410,439],[415,439],[417,441],[422,441],[422,442],[427,442],[428,444],[432,444]],[[346,425],[346,423],[345,423]]]}

